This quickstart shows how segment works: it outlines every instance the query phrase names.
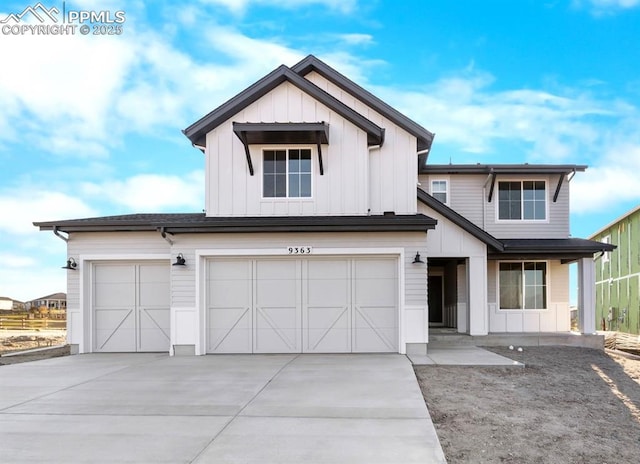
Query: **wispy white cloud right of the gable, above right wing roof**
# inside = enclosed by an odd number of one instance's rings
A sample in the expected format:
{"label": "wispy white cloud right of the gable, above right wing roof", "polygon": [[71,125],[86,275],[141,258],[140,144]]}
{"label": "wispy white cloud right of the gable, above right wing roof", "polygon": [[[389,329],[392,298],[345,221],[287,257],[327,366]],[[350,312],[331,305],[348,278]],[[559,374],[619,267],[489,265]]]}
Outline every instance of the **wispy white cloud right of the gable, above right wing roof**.
{"label": "wispy white cloud right of the gable, above right wing roof", "polygon": [[382,96],[447,144],[468,153],[490,153],[501,141],[524,143],[532,160],[563,161],[604,144],[603,127],[638,115],[623,102],[587,93],[554,95],[543,90],[494,91],[494,79],[474,72],[441,79],[419,90],[378,88]]}

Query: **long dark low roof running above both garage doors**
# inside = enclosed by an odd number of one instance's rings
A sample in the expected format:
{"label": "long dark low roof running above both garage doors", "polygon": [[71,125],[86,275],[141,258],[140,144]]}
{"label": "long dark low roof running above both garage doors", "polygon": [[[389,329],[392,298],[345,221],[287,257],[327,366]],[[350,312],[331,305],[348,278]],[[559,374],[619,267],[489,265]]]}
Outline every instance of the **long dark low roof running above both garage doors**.
{"label": "long dark low roof running above both garage doors", "polygon": [[372,216],[207,217],[204,213],[127,214],[34,222],[61,232],[161,231],[170,234],[222,232],[426,232],[437,221],[424,214]]}

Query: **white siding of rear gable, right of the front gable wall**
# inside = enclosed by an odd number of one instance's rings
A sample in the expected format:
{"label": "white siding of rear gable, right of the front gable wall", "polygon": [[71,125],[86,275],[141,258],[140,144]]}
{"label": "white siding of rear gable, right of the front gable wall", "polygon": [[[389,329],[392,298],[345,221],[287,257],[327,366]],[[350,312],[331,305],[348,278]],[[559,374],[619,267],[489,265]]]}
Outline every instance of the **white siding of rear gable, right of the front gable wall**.
{"label": "white siding of rear gable, right of the front gable wall", "polygon": [[385,129],[384,144],[380,149],[372,149],[369,157],[369,207],[372,213],[414,214],[418,177],[416,137],[317,72],[312,71],[305,78]]}

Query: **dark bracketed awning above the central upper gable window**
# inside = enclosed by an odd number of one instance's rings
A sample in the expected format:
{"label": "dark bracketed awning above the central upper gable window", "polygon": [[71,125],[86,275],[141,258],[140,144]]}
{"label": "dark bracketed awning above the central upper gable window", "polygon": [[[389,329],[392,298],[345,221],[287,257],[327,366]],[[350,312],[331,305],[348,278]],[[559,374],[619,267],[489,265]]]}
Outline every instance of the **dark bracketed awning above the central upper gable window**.
{"label": "dark bracketed awning above the central upper gable window", "polygon": [[249,173],[253,176],[253,163],[249,145],[300,145],[318,147],[320,175],[324,175],[322,145],[329,143],[329,124],[326,122],[234,122],[233,132],[244,145]]}

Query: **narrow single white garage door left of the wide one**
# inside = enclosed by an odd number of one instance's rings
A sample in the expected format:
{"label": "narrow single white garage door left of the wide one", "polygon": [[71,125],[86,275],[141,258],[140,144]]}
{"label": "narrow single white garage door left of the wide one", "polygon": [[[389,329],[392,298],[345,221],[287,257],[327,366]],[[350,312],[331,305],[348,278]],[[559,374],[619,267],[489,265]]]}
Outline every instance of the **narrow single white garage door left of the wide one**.
{"label": "narrow single white garage door left of the wide one", "polygon": [[97,352],[169,351],[169,264],[93,265]]}

